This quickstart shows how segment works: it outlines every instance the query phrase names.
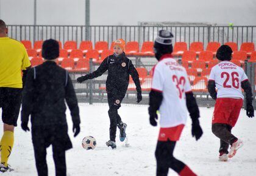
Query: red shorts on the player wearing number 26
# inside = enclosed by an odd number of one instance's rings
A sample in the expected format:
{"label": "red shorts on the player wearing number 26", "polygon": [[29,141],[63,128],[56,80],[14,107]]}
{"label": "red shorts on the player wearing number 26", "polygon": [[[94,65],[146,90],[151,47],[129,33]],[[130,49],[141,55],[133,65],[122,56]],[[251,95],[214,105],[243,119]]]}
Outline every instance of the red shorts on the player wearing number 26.
{"label": "red shorts on the player wearing number 26", "polygon": [[242,107],[243,99],[217,98],[212,123],[224,123],[232,127],[235,126]]}

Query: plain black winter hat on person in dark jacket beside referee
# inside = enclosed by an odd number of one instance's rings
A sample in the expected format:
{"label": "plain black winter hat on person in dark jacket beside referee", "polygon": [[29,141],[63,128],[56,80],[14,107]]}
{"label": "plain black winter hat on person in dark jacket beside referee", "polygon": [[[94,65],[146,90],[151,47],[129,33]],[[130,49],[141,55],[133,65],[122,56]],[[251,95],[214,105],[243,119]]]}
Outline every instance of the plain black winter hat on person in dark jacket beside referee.
{"label": "plain black winter hat on person in dark jacket beside referee", "polygon": [[59,57],[60,47],[59,42],[54,39],[48,39],[43,42],[42,56],[44,59],[56,59]]}

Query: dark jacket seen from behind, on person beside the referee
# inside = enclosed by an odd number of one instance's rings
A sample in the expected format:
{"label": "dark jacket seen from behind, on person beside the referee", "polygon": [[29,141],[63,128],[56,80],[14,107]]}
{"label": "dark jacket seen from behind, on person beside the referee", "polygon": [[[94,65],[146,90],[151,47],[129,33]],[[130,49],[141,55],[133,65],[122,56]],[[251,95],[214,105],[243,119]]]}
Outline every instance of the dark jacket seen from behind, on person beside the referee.
{"label": "dark jacket seen from behind, on person beside the referee", "polygon": [[21,121],[31,115],[32,127],[66,125],[66,103],[74,124],[80,124],[76,93],[68,72],[46,61],[27,73],[23,90]]}

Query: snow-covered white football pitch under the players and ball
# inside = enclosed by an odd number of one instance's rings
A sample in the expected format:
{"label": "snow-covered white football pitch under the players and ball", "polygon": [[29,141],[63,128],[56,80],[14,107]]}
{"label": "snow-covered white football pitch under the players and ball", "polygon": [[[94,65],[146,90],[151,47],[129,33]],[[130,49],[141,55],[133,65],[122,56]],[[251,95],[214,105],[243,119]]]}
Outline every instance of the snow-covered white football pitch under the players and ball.
{"label": "snow-covered white football pitch under the players and ball", "polygon": [[[79,107],[82,124],[81,132],[76,138],[73,137],[71,117],[67,112],[69,137],[73,142],[73,149],[66,152],[68,175],[155,175],[154,151],[158,127],[150,126],[147,106],[124,105],[119,109],[122,120],[127,123],[130,147],[124,147],[124,143],[117,138],[116,150],[105,146],[105,141],[108,140],[108,107],[85,104],[79,104]],[[245,110],[241,110],[233,134],[244,141],[244,146],[235,157],[223,163],[218,161],[219,140],[211,132],[213,108],[200,110],[204,135],[199,141],[191,137],[189,119],[176,145],[174,156],[188,164],[198,175],[256,175],[256,118],[247,118]],[[21,130],[20,118],[18,122],[15,145],[9,159],[9,164],[15,171],[1,175],[34,176],[37,171],[31,135],[30,132]],[[0,129],[2,136],[2,123]],[[98,144],[93,151],[82,148],[81,141],[87,135],[92,135],[97,140]],[[51,147],[48,148],[47,160],[49,175],[55,175]],[[170,169],[169,175],[177,174]]]}

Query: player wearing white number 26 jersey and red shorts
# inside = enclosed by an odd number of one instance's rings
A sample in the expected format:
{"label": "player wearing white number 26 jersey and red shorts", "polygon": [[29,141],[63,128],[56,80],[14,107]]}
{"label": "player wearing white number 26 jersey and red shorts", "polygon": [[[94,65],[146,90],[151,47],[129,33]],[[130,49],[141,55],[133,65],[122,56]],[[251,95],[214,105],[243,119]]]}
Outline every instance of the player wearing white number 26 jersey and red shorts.
{"label": "player wearing white number 26 jersey and red shorts", "polygon": [[229,46],[219,47],[216,58],[219,63],[212,68],[208,80],[208,91],[216,100],[212,132],[221,140],[219,161],[227,161],[228,157],[232,158],[237,149],[243,146],[243,142],[231,134],[243,106],[244,96],[241,88],[246,93],[246,114],[248,117],[254,117],[252,88],[244,70],[230,62],[232,49]]}

